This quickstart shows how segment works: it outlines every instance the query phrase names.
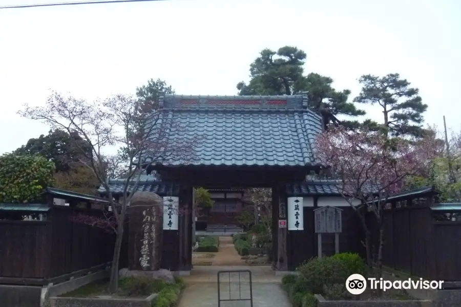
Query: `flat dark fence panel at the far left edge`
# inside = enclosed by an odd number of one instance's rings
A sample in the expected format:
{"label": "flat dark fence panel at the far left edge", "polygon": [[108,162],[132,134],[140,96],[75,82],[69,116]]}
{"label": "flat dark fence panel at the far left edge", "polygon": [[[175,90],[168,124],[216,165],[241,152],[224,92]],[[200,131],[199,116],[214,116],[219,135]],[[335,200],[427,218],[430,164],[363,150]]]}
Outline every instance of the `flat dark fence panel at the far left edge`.
{"label": "flat dark fence panel at the far left edge", "polygon": [[47,222],[0,221],[0,277],[44,278]]}

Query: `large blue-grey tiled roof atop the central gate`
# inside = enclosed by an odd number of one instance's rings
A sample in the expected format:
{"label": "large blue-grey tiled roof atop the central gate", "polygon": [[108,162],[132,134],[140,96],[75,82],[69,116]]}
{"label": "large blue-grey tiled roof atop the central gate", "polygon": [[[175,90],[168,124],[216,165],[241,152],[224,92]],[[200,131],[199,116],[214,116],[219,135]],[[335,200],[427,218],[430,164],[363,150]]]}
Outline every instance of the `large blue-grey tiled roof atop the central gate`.
{"label": "large blue-grey tiled roof atop the central gate", "polygon": [[165,95],[159,106],[162,118],[187,126],[172,138],[202,137],[197,161],[172,165],[317,165],[312,147],[322,119],[308,109],[307,96]]}

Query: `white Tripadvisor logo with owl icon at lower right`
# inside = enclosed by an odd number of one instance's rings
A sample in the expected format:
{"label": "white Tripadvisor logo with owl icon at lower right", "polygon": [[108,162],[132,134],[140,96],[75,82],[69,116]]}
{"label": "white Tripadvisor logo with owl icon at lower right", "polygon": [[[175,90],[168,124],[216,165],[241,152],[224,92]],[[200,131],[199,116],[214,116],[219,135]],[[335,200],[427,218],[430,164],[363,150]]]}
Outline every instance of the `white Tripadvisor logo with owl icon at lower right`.
{"label": "white Tripadvisor logo with owl icon at lower right", "polygon": [[383,291],[389,289],[396,289],[396,290],[410,290],[410,289],[420,289],[420,290],[428,290],[428,289],[442,289],[442,284],[444,283],[443,280],[423,280],[420,278],[419,280],[412,280],[408,278],[406,280],[384,280],[383,278],[368,278],[365,279],[360,274],[352,274],[346,280],[346,289],[349,291],[350,294],[359,295],[365,292],[367,286],[371,290],[381,289]]}

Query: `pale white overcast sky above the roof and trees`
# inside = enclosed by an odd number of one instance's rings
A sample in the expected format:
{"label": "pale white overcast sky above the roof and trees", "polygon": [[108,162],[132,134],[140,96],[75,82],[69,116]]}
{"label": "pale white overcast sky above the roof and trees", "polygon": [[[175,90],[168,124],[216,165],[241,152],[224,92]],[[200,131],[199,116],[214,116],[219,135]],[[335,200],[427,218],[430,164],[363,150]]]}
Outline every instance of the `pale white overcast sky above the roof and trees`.
{"label": "pale white overcast sky above the roof and trees", "polygon": [[[54,1],[54,2],[63,2]],[[71,0],[67,0],[71,1]],[[74,0],[75,1],[75,0]],[[0,6],[52,0],[0,0]],[[360,92],[363,74],[400,73],[426,121],[461,125],[459,0],[171,0],[0,10],[0,153],[46,134],[20,118],[49,90],[104,98],[161,78],[183,95],[235,95],[264,48],[297,46],[306,73]],[[379,109],[369,117],[382,121]]]}

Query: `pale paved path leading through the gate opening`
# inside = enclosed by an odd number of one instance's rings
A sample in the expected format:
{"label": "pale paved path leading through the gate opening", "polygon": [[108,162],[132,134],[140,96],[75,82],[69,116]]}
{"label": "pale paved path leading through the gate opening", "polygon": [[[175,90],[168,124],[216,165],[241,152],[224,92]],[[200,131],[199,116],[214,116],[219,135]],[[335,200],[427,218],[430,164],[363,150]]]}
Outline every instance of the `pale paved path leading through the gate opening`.
{"label": "pale paved path leading through the gate opening", "polygon": [[[239,263],[243,265],[238,265]],[[235,251],[232,238],[228,237],[220,237],[220,249],[213,266],[195,266],[190,276],[184,276],[187,286],[178,307],[217,307],[218,272],[242,270],[252,273],[254,307],[291,307],[285,292],[280,288],[282,277],[276,276],[269,266],[244,266],[244,261]],[[247,272],[240,273],[240,276],[239,273],[220,274],[221,299],[249,298],[249,286]],[[250,306],[249,301],[221,302],[221,307],[247,306]]]}

